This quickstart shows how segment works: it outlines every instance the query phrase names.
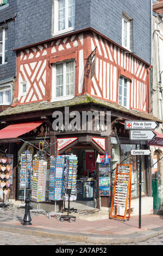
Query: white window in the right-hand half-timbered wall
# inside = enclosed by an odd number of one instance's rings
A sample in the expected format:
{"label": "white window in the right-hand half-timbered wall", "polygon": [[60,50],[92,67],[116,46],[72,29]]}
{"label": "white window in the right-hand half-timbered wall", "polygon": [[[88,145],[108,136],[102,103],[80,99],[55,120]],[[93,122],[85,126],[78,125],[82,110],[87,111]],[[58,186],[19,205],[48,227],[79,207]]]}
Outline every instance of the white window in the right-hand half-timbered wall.
{"label": "white window in the right-hand half-timbered wall", "polygon": [[129,108],[129,84],[130,82],[126,77],[120,77],[118,103],[126,108]]}

